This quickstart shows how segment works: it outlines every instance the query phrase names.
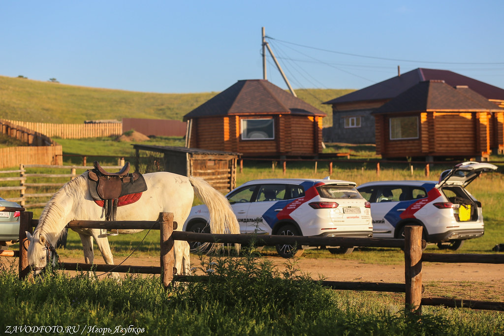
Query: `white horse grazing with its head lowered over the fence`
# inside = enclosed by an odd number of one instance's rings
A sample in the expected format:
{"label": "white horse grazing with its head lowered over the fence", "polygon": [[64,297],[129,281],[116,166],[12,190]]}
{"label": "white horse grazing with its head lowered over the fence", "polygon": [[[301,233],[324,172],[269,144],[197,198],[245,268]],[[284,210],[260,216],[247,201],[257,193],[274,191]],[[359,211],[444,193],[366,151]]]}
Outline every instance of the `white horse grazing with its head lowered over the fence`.
{"label": "white horse grazing with its head lowered over the fence", "polygon": [[[194,194],[205,203],[210,212],[210,230],[212,233],[239,234],[239,225],[227,198],[210,184],[198,177],[185,177],[168,172],[148,173],[143,175],[147,184],[136,203],[117,207],[117,221],[156,221],[160,212],[173,213],[173,221],[182,229],[193,205]],[[34,275],[44,270],[51,251],[54,250],[65,226],[72,220],[104,220],[105,211],[91,197],[88,188],[88,172],[67,182],[49,200],[40,215],[33,235],[27,233],[30,241],[28,263],[34,268]],[[73,229],[79,233],[84,248],[86,263],[93,263],[93,240],[96,241],[103,259],[113,264],[112,253],[106,235],[100,235],[100,229]],[[135,233],[142,230],[119,230],[120,233]],[[189,244],[186,241],[174,241],[175,267],[178,273],[189,274]],[[114,277],[118,277],[116,273]]]}

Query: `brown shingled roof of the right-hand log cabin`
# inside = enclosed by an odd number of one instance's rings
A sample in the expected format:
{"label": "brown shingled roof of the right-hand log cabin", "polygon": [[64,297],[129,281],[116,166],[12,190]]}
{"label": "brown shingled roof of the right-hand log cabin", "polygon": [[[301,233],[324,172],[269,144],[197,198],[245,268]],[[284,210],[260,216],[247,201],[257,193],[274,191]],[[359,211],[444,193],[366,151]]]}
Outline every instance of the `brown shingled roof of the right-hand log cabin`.
{"label": "brown shingled roof of the right-hand log cabin", "polygon": [[404,91],[373,114],[419,111],[504,111],[468,87],[452,87],[444,81],[425,81]]}

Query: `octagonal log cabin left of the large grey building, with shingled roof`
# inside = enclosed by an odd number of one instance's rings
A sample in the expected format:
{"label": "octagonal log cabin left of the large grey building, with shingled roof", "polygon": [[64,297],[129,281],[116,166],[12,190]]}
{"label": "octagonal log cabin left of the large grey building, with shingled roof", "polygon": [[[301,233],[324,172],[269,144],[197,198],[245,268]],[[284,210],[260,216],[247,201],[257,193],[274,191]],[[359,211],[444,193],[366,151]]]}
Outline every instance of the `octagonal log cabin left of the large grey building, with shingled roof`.
{"label": "octagonal log cabin left of the large grey building, with shingled roof", "polygon": [[316,156],[325,116],[267,80],[238,81],[184,116],[186,147],[244,157]]}

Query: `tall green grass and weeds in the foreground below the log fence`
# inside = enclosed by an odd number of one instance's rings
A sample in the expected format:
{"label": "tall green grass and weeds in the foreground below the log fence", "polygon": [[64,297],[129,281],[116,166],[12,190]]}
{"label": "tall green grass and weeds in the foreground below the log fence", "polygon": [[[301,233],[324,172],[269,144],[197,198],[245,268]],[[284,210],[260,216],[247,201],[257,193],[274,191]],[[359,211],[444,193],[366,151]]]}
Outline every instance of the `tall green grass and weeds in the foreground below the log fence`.
{"label": "tall green grass and weeds in the foreground below the log fence", "polygon": [[[424,307],[405,313],[403,295],[325,289],[290,263],[279,272],[254,254],[202,259],[208,281],[164,289],[158,276],[93,281],[85,274],[19,281],[14,266],[0,271],[0,328],[90,326],[143,329],[142,334],[486,335],[504,332],[504,315]],[[31,329],[30,331],[33,331]],[[44,334],[44,332],[35,332]],[[106,334],[110,334],[108,331]],[[121,333],[122,334],[122,333]]]}

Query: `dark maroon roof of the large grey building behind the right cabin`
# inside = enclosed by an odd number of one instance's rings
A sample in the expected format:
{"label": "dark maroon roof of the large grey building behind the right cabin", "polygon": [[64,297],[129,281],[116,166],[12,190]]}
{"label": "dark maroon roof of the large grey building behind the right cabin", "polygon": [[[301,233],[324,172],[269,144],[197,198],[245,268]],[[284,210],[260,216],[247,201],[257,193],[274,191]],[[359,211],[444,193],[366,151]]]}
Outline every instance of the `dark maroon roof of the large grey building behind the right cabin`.
{"label": "dark maroon roof of the large grey building behind the right cabin", "polygon": [[448,70],[418,68],[401,76],[396,76],[386,81],[368,86],[364,89],[332,99],[324,104],[392,99],[417,83],[430,80],[442,80],[452,87],[458,85],[468,86],[471,90],[482,95],[487,100],[504,100],[504,89],[496,86],[486,84]]}

